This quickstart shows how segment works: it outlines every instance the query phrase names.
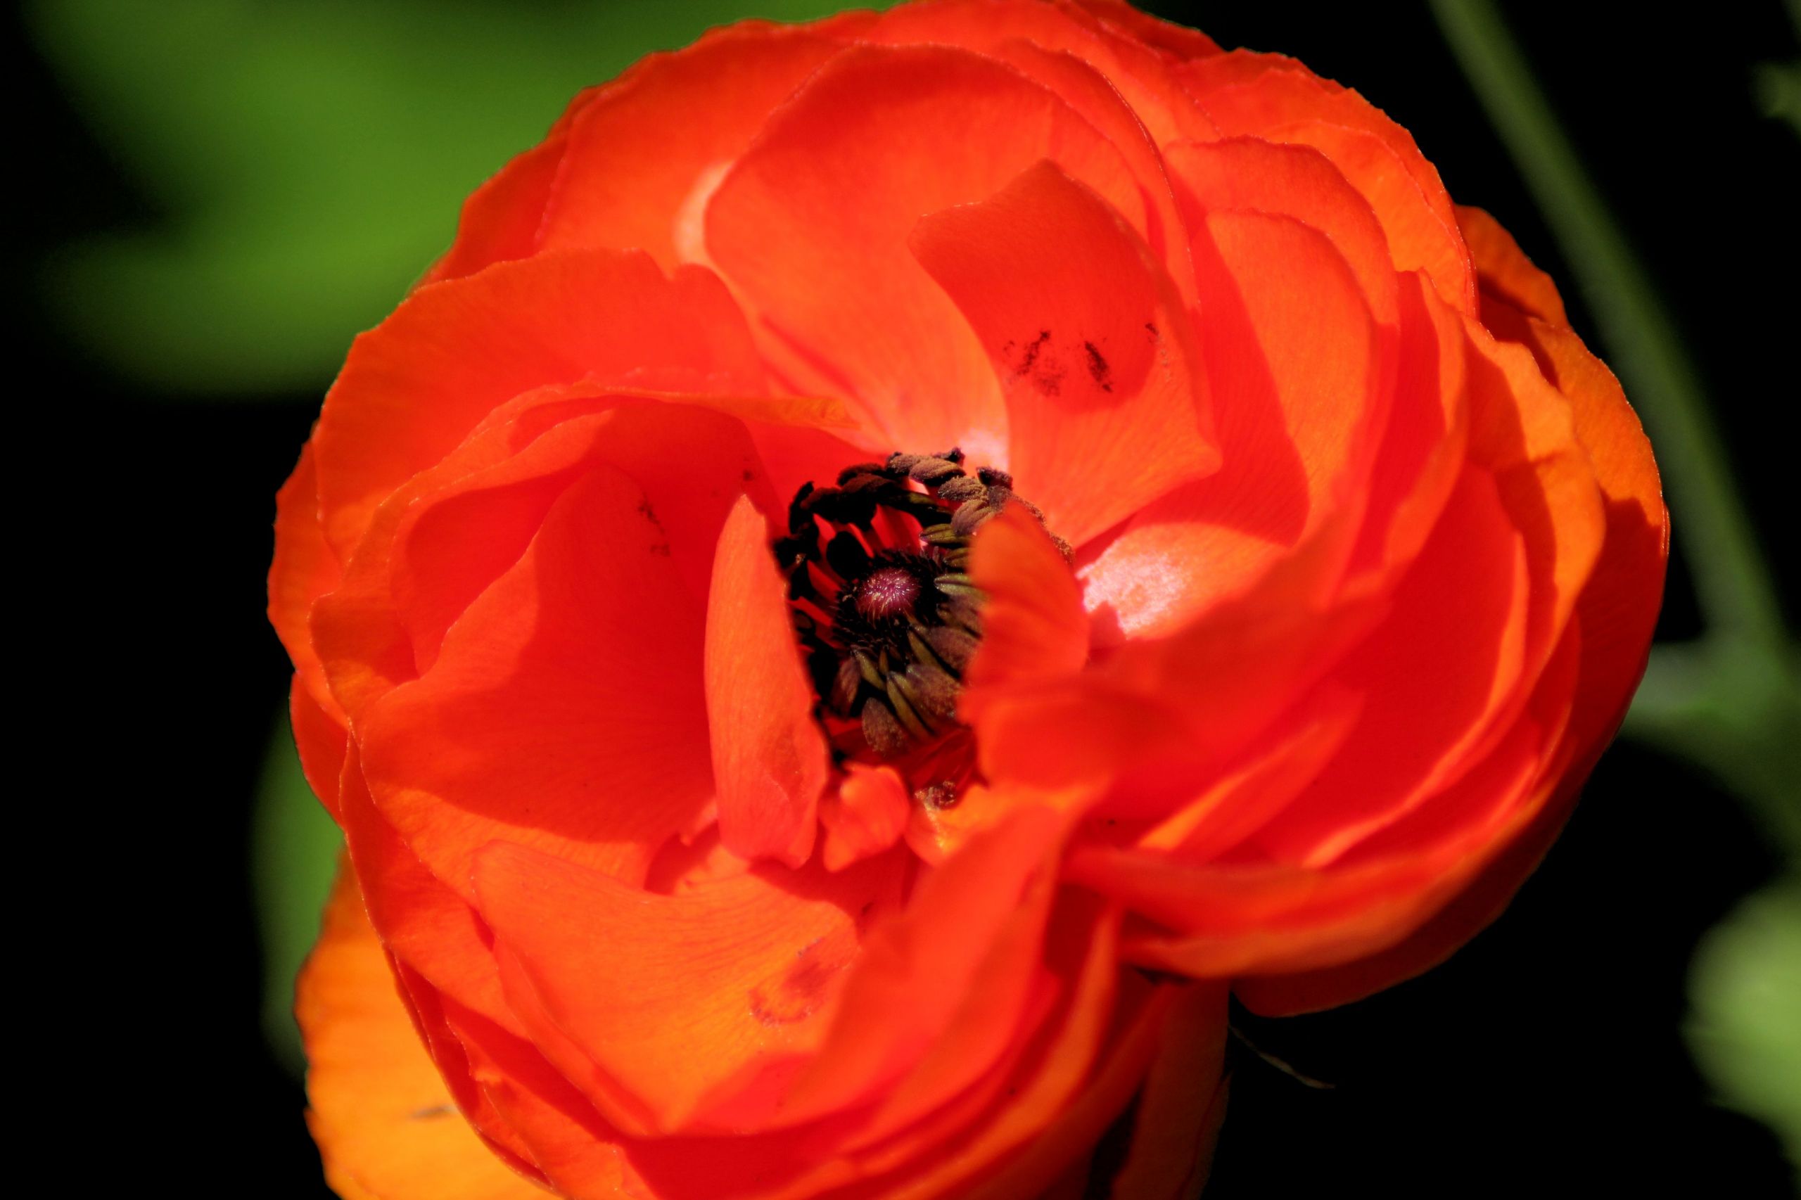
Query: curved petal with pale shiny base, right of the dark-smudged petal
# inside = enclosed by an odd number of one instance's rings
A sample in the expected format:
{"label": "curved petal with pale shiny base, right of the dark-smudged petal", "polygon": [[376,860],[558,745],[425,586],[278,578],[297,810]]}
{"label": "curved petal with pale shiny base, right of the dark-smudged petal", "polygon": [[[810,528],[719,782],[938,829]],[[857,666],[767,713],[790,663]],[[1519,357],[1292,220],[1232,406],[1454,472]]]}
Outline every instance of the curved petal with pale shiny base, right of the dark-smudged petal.
{"label": "curved petal with pale shiny base, right of the dark-smudged petal", "polygon": [[1318,595],[1351,550],[1389,413],[1385,339],[1324,234],[1234,211],[1194,234],[1201,360],[1212,395],[1230,396],[1216,411],[1225,463],[1147,505],[1082,566],[1086,604],[1115,641],[1203,620],[1333,532],[1335,548],[1311,559]]}

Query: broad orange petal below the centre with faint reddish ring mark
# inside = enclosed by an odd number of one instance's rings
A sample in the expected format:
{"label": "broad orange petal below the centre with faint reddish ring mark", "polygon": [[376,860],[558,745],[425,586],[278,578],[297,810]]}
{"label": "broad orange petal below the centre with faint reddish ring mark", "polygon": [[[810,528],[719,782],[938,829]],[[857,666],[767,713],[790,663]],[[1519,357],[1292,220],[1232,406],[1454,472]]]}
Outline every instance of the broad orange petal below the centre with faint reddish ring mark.
{"label": "broad orange petal below the centre with faint reddish ring mark", "polygon": [[774,1099],[769,1068],[819,1043],[857,926],[899,899],[899,867],[749,872],[652,895],[497,841],[475,890],[533,1040],[621,1128],[674,1132],[715,1094]]}

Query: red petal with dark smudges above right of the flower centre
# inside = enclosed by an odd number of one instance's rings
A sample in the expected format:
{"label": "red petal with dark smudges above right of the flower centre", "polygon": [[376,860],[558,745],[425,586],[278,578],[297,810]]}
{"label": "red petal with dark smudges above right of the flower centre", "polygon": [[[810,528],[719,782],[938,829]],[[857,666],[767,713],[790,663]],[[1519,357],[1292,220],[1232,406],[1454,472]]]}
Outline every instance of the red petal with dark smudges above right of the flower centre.
{"label": "red petal with dark smudges above right of the flower centre", "polygon": [[1009,468],[1072,546],[1219,467],[1174,286],[1059,166],[928,216],[908,243],[994,360]]}

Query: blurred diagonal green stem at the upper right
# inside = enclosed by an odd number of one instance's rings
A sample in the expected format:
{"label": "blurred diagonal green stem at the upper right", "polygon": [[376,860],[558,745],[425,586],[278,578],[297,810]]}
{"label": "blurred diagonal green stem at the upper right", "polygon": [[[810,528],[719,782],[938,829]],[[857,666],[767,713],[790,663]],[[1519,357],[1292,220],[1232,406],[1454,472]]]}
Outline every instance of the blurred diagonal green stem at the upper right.
{"label": "blurred diagonal green stem at the upper right", "polygon": [[1733,486],[1725,450],[1682,339],[1619,225],[1558,126],[1489,0],[1430,0],[1452,54],[1525,178],[1644,420],[1680,517],[1677,535],[1713,632],[1754,645],[1787,638],[1769,568]]}

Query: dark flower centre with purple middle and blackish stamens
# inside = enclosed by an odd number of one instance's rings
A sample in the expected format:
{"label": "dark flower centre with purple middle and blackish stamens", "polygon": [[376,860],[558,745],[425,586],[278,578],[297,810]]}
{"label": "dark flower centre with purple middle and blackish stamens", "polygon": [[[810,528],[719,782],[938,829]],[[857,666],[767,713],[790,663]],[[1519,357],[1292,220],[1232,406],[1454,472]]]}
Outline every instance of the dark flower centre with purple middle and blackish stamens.
{"label": "dark flower centre with purple middle and blackish stamens", "polygon": [[931,807],[974,777],[956,697],[983,595],[964,569],[976,530],[1009,503],[1045,519],[1007,472],[969,474],[962,450],[891,454],[834,486],[803,485],[774,542],[834,762],[893,764]]}

